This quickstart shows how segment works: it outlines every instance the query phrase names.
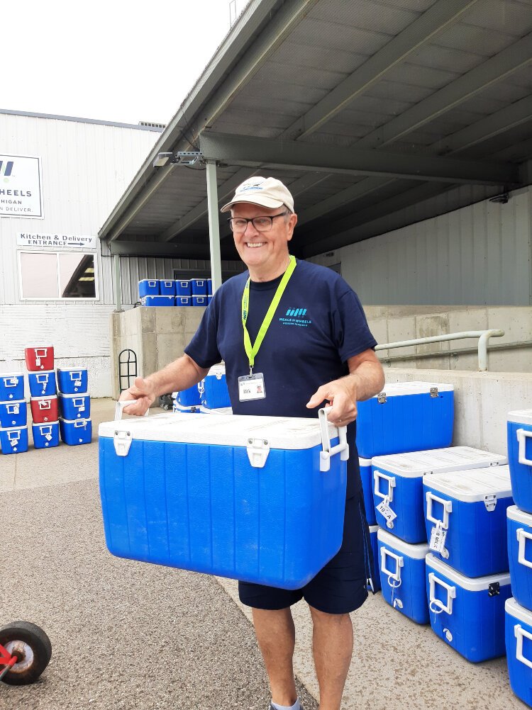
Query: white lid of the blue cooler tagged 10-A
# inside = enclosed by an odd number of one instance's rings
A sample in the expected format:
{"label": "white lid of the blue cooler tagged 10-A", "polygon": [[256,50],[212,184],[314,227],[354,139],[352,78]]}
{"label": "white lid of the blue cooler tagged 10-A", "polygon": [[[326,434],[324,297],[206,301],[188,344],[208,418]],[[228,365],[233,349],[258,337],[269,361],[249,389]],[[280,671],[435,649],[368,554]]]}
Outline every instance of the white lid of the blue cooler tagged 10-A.
{"label": "white lid of the blue cooler tagged 10-A", "polygon": [[411,454],[391,454],[390,456],[375,456],[371,459],[373,466],[391,471],[405,478],[422,476],[423,474],[443,473],[443,471],[462,471],[462,469],[479,469],[487,466],[499,466],[508,463],[506,456],[490,454],[480,449],[467,446],[455,446],[447,449],[430,449]]}

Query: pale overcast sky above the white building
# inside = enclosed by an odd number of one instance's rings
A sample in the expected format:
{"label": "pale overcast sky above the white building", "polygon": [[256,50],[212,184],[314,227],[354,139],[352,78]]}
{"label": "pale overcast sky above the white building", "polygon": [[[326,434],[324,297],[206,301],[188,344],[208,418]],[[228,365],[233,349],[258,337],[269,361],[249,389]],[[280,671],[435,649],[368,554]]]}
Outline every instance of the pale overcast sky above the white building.
{"label": "pale overcast sky above the white building", "polygon": [[[246,4],[236,0],[237,11]],[[0,108],[168,123],[229,31],[229,5],[3,2]]]}

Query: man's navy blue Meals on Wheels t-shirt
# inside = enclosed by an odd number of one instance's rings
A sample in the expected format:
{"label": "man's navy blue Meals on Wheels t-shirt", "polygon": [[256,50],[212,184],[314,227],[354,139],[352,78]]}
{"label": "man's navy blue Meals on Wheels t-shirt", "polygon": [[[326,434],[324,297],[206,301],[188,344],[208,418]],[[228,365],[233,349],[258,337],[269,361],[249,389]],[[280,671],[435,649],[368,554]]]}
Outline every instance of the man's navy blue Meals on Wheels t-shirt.
{"label": "man's navy blue Meals on Wheels t-shirt", "polygon": [[[217,290],[185,353],[203,368],[225,362],[234,414],[317,417],[318,408],[305,406],[317,388],[347,375],[347,359],[376,346],[359,298],[334,271],[298,260],[255,356],[253,369],[264,374],[266,398],[241,402],[238,378],[249,374],[241,320],[248,277],[241,273]],[[249,284],[251,344],[281,278]],[[347,498],[361,487],[355,427],[347,427]]]}

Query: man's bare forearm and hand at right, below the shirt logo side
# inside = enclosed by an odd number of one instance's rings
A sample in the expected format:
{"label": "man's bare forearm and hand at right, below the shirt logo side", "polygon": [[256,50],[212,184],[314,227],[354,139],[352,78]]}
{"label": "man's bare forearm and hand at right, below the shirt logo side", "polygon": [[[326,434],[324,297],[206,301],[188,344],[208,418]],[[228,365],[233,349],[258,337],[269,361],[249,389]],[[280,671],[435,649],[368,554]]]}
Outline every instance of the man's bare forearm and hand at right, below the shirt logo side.
{"label": "man's bare forearm and hand at right, below the shirt logo side", "polygon": [[328,400],[332,404],[329,421],[342,427],[357,418],[357,402],[373,397],[384,387],[384,371],[373,350],[350,357],[347,365],[349,375],[322,385],[307,403],[310,409]]}

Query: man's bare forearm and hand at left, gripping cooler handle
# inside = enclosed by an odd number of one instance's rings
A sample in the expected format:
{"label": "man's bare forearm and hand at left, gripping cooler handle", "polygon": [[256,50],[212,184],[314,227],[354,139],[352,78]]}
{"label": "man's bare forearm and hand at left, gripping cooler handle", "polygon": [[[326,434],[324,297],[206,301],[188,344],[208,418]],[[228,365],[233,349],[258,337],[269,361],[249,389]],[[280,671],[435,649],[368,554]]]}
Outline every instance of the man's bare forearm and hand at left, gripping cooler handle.
{"label": "man's bare forearm and hand at left, gripping cooler handle", "polygon": [[136,377],[133,386],[120,395],[120,400],[136,400],[124,408],[126,414],[141,416],[156,398],[168,392],[186,390],[207,376],[208,368],[200,367],[191,357],[183,355],[149,377]]}

